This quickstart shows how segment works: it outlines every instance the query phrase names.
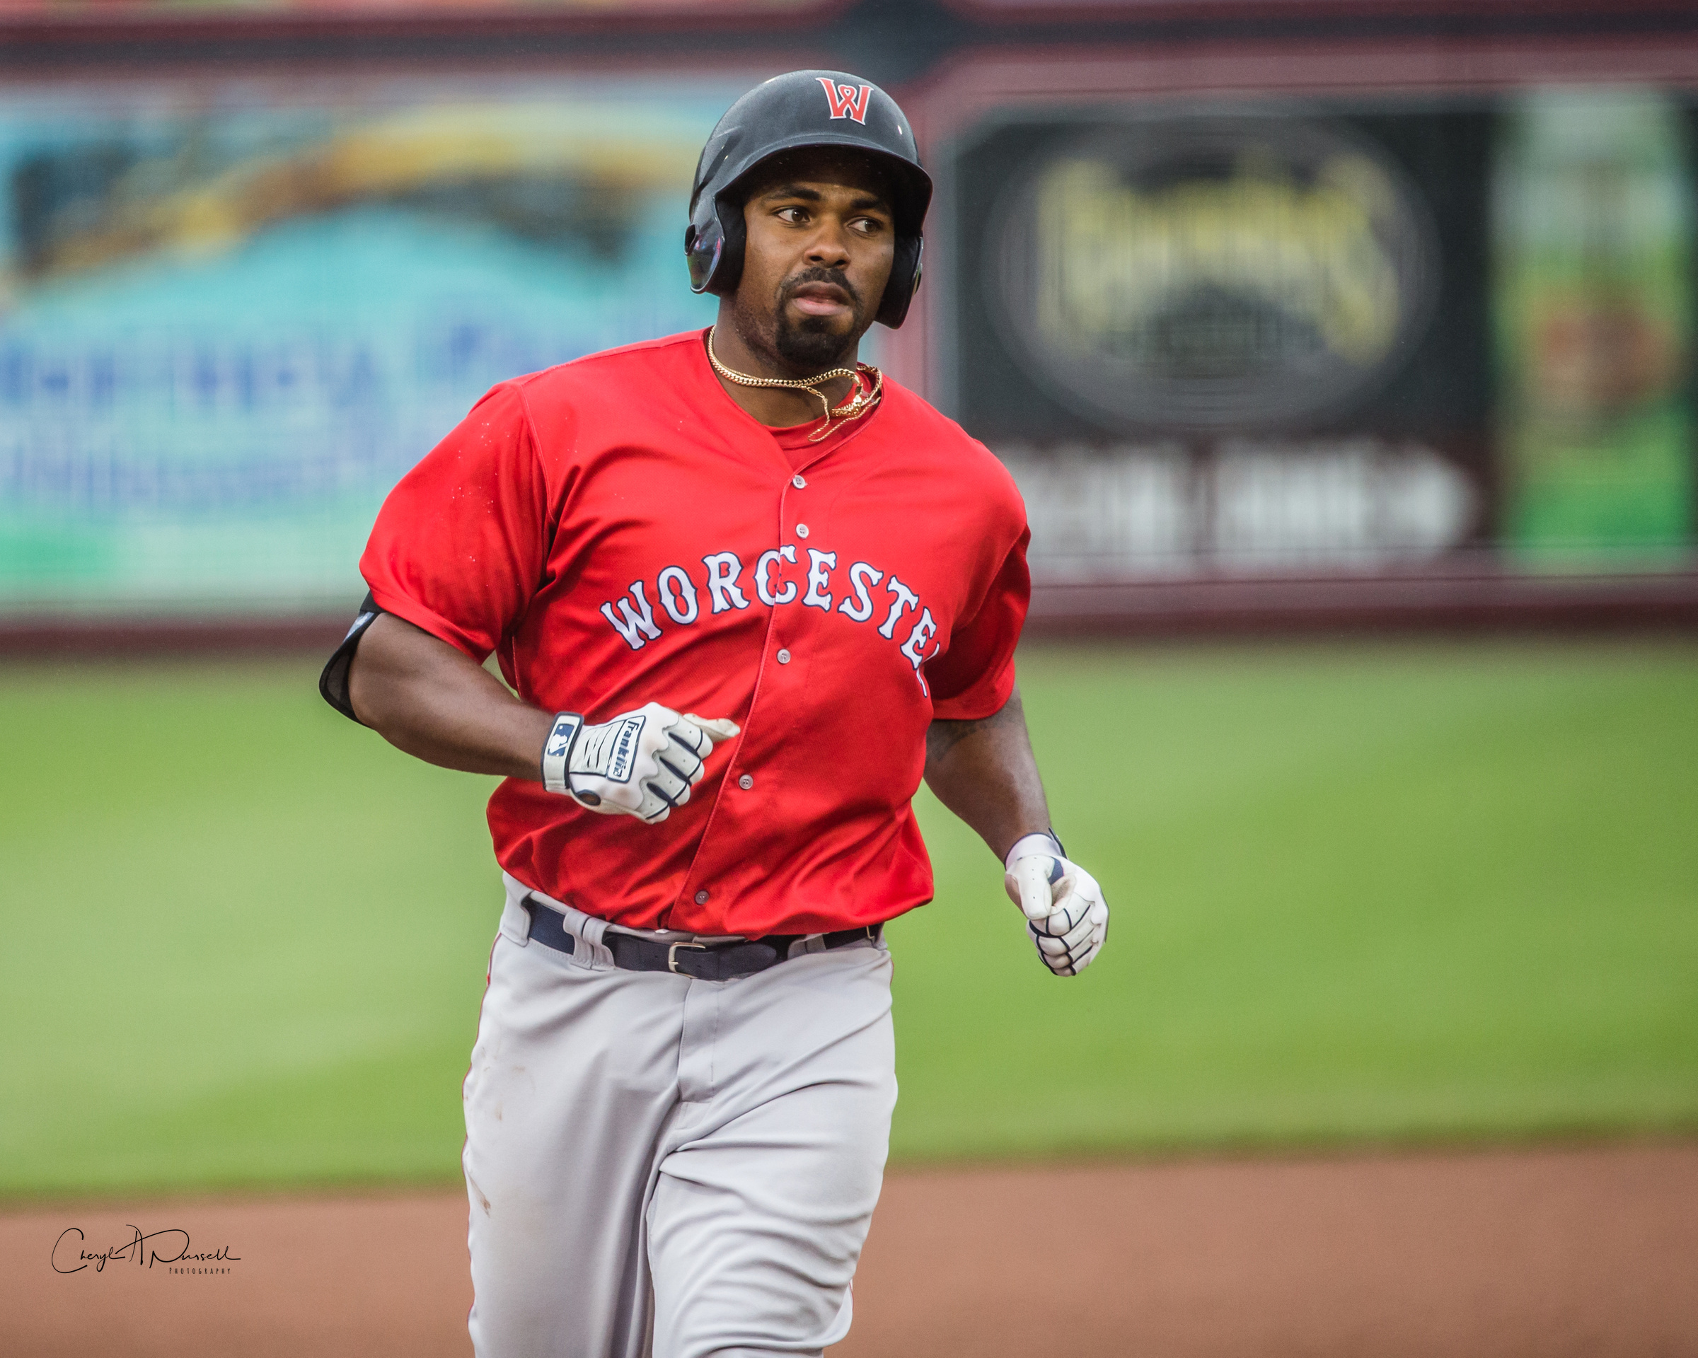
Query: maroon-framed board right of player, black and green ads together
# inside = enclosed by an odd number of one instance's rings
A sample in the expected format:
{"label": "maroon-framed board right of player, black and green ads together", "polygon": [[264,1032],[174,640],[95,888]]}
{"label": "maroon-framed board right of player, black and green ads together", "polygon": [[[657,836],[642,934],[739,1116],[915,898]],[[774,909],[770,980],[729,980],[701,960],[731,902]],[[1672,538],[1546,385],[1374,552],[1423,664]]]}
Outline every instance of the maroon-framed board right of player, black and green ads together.
{"label": "maroon-framed board right of player, black and green ads together", "polygon": [[1681,567],[1693,107],[992,110],[936,158],[934,396],[1041,579]]}

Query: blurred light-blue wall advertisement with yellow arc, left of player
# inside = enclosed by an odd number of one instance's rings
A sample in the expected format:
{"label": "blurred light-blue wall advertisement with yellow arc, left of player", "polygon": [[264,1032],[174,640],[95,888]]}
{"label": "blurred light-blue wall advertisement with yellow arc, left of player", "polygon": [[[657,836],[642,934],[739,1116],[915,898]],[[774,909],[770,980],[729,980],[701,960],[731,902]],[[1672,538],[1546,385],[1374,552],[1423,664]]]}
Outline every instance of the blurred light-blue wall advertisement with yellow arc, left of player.
{"label": "blurred light-blue wall advertisement with yellow arc, left of player", "polygon": [[0,611],[343,611],[492,384],[711,321],[689,177],[754,83],[0,97]]}

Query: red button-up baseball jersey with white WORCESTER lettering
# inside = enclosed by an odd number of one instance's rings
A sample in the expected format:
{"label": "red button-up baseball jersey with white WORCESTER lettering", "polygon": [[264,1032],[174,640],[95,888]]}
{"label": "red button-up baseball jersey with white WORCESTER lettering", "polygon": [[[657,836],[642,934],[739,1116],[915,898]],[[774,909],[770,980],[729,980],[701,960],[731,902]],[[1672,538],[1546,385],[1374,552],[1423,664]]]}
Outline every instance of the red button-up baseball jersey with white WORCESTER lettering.
{"label": "red button-up baseball jersey with white WORCESTER lettering", "polygon": [[732,401],[691,331],[492,389],[391,492],[360,570],[540,708],[735,720],[659,825],[506,779],[489,828],[588,915],[754,937],[931,900],[925,728],[1009,699],[1026,540],[1002,463],[898,384],[810,445]]}

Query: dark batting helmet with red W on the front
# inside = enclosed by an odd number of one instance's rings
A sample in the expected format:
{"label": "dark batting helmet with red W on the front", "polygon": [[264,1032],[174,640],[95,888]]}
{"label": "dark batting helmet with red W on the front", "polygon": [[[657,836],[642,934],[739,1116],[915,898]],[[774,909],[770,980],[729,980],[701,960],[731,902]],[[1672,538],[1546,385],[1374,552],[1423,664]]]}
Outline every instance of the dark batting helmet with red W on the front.
{"label": "dark batting helmet with red W on the front", "polygon": [[844,71],[791,71],[756,85],[720,119],[701,148],[689,194],[684,255],[689,287],[720,297],[742,277],[744,217],[739,183],[779,151],[800,146],[852,146],[891,171],[897,258],[874,319],[895,329],[920,285],[920,227],[932,180],[920,168],[914,129],[897,100],[878,85]]}

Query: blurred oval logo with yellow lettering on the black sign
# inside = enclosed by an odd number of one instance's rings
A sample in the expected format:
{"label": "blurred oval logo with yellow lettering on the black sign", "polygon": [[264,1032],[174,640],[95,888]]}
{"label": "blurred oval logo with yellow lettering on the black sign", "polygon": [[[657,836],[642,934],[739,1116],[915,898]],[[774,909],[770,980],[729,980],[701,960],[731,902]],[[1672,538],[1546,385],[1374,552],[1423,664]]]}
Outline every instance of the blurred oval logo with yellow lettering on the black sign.
{"label": "blurred oval logo with yellow lettering on the black sign", "polygon": [[1063,402],[1126,426],[1326,414],[1433,300],[1425,205],[1372,143],[1299,117],[1097,131],[1010,185],[993,314]]}

